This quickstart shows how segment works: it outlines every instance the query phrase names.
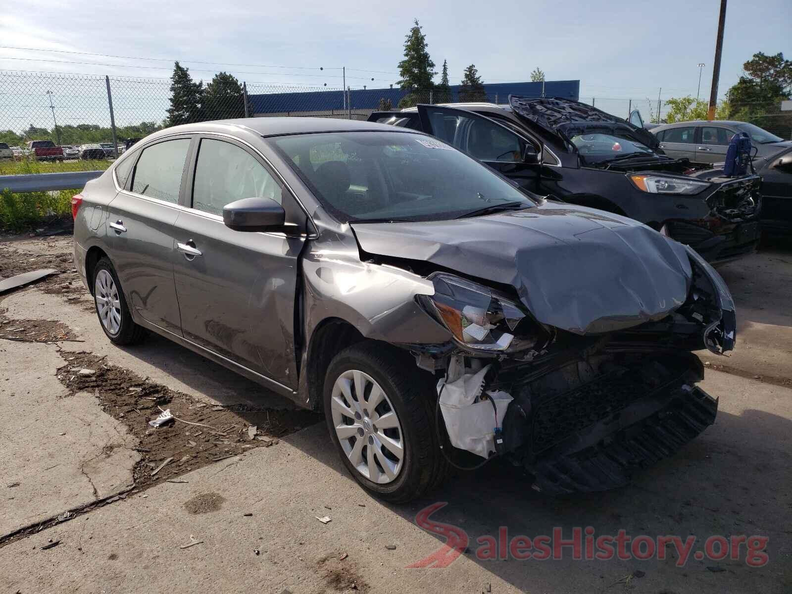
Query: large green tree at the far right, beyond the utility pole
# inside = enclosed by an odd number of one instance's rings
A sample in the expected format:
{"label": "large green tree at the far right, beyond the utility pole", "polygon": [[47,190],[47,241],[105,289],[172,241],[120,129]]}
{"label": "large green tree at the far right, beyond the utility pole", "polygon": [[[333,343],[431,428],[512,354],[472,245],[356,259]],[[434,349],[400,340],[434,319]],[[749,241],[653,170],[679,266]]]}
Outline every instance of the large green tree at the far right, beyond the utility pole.
{"label": "large green tree at the far right, beyond the utility pole", "polygon": [[789,138],[792,116],[781,111],[781,101],[792,94],[792,61],[779,51],[757,51],[743,64],[744,74],[729,89],[729,118],[751,122]]}

